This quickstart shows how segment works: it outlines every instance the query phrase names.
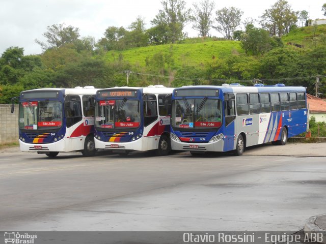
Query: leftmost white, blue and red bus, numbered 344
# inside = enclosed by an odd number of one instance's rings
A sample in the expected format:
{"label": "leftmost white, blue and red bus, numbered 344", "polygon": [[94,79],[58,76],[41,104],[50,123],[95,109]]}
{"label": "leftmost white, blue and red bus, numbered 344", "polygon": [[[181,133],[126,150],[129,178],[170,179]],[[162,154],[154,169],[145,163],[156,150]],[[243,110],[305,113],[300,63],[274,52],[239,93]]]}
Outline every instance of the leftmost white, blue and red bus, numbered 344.
{"label": "leftmost white, blue and red bus, numbered 344", "polygon": [[94,99],[90,97],[96,91],[93,86],[85,86],[21,92],[17,97],[20,150],[48,157],[67,151],[93,156]]}

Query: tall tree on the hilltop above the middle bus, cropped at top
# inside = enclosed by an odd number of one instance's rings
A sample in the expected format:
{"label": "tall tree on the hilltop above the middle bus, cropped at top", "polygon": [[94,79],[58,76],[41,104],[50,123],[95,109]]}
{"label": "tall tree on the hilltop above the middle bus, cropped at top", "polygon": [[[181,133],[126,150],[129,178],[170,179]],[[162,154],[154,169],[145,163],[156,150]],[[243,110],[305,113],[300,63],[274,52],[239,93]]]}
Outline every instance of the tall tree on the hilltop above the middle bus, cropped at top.
{"label": "tall tree on the hilltop above the middle bus, cropped at top", "polygon": [[162,0],[163,9],[151,21],[153,25],[167,29],[167,36],[171,43],[184,37],[183,28],[192,19],[191,9],[185,9],[183,0]]}

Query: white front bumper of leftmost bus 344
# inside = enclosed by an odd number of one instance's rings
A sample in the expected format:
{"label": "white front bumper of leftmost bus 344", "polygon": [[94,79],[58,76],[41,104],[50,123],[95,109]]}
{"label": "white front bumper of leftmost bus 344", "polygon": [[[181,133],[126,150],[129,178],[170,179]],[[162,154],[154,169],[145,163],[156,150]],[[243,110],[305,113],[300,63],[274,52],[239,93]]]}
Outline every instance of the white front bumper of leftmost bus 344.
{"label": "white front bumper of leftmost bus 344", "polygon": [[47,152],[47,151],[65,151],[66,142],[64,139],[59,140],[53,143],[25,143],[19,140],[19,147],[21,151],[39,151],[39,152]]}

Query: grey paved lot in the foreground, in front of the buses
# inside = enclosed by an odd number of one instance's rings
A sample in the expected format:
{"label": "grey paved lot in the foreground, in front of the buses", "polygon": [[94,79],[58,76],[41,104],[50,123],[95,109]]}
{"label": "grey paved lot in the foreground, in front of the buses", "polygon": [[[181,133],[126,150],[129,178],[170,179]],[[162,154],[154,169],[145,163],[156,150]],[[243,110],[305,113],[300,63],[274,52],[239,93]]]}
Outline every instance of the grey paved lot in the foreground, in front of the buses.
{"label": "grey paved lot in the foreground, in front of the buses", "polygon": [[1,231],[298,231],[324,157],[0,154]]}

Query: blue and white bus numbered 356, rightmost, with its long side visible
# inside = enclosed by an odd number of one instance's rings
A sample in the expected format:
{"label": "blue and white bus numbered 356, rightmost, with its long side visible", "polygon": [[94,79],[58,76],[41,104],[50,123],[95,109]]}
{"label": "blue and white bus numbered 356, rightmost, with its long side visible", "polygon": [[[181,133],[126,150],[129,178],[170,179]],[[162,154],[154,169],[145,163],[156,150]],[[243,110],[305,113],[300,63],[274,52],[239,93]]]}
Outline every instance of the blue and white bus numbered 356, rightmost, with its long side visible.
{"label": "blue and white bus numbered 356, rightmost, with its long side visible", "polygon": [[184,86],[172,94],[171,146],[192,155],[235,151],[306,132],[306,89],[276,84]]}

